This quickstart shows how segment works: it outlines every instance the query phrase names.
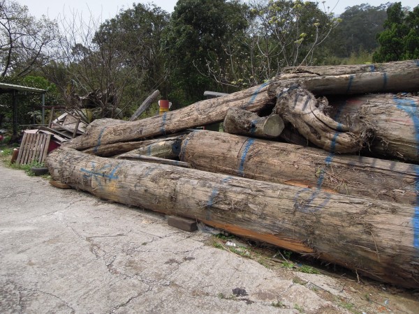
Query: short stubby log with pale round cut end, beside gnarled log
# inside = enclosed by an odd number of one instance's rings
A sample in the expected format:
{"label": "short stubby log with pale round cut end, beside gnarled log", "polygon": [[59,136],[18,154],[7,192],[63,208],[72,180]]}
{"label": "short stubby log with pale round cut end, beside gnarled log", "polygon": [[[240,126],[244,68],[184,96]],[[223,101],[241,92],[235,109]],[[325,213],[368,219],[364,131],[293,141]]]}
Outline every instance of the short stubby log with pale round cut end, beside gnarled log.
{"label": "short stubby log with pale round cut end, beside gnarled log", "polygon": [[278,114],[259,117],[257,114],[230,108],[223,122],[224,132],[252,137],[274,138],[281,135],[284,130],[284,121]]}

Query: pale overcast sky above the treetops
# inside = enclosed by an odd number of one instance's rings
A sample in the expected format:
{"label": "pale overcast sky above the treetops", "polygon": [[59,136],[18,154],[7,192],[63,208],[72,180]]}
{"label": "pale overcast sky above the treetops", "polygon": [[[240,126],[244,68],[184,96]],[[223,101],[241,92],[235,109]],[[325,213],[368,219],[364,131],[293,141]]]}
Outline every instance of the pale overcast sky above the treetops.
{"label": "pale overcast sky above the treetops", "polygon": [[[58,15],[72,15],[72,13],[82,13],[83,16],[101,17],[102,20],[115,17],[120,9],[130,8],[133,3],[150,3],[154,2],[163,10],[172,12],[177,0],[15,0],[18,3],[27,6],[29,13],[35,17],[47,15],[50,18],[55,18]],[[390,2],[397,2],[391,1]],[[379,6],[381,3],[386,3],[386,0],[328,0],[325,1],[326,10],[328,6],[330,11],[339,14],[344,12],[347,6],[355,6],[361,3],[369,3],[371,6]],[[319,8],[323,9],[322,1],[318,1]],[[418,5],[418,0],[402,0],[402,6],[410,6],[414,8]]]}

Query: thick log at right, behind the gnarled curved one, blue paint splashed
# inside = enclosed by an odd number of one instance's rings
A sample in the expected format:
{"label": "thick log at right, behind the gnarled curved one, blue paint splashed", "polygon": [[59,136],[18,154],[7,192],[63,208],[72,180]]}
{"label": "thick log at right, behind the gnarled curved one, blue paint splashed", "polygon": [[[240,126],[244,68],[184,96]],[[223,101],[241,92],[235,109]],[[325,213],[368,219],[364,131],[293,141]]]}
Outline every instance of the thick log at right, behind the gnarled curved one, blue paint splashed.
{"label": "thick log at right, behind the gnarled curved one, blue paint splashed", "polygon": [[330,98],[330,116],[344,124],[372,126],[372,154],[419,161],[419,97],[372,94]]}

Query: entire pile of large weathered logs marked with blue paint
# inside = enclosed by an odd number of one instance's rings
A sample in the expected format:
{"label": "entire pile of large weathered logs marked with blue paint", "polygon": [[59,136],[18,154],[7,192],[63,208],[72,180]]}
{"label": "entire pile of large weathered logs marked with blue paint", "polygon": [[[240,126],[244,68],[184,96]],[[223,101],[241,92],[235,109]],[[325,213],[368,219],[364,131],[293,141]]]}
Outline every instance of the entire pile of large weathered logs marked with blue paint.
{"label": "entire pile of large weathered logs marked with blue paint", "polygon": [[[419,61],[287,68],[160,116],[94,121],[47,166],[103,199],[419,287],[417,91]],[[220,121],[229,133],[191,130]]]}

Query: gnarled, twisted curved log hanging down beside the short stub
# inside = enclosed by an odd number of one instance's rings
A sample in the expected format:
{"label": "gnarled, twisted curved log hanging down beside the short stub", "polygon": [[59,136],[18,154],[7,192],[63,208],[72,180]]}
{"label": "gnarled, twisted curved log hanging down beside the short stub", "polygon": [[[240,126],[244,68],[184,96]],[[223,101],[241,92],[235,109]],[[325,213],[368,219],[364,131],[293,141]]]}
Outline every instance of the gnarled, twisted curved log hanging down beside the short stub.
{"label": "gnarled, twisted curved log hanging down beside the short stub", "polygon": [[318,100],[306,89],[290,87],[282,91],[274,113],[289,121],[316,146],[332,153],[353,153],[362,149],[367,126],[349,128],[323,113],[327,100]]}

